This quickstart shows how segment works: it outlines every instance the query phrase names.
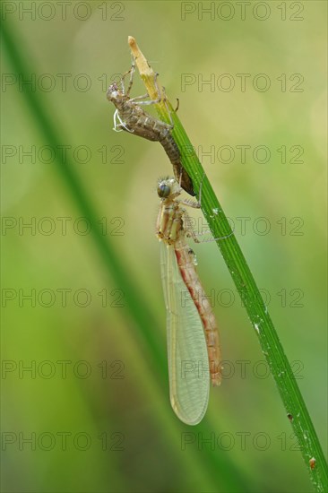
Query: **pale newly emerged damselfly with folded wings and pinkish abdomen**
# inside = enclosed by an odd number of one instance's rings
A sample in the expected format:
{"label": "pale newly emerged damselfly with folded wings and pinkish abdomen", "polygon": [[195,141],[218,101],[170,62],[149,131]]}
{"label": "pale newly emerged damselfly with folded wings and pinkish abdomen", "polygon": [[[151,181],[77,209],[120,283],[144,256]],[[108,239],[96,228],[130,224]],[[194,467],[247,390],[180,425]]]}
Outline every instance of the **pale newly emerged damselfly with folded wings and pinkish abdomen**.
{"label": "pale newly emerged damselfly with folded wings and pinkish abdomen", "polygon": [[195,270],[193,250],[186,236],[185,204],[178,200],[182,189],[174,178],[159,182],[161,198],[157,221],[160,267],[167,308],[168,376],[170,402],[177,417],[196,425],[207,409],[212,385],[220,385],[220,341],[209,299]]}

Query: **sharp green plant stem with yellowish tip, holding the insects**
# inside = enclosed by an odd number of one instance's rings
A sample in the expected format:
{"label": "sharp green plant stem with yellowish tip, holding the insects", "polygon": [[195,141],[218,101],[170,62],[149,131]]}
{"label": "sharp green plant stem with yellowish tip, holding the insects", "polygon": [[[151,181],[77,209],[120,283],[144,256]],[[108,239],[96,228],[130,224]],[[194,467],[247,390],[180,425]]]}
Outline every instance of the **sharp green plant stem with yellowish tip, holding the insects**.
{"label": "sharp green plant stem with yellowish tip, holding the insects", "polygon": [[[135,57],[136,65],[142,77],[151,99],[158,98],[159,81],[154,82],[154,73],[146,58],[138,48],[134,38],[128,39],[130,48]],[[161,88],[160,88],[161,89]],[[170,121],[168,108],[172,106],[168,102],[161,101],[156,104],[160,118],[166,122]],[[198,160],[194,147],[190,142],[186,131],[181,125],[175,112],[171,113],[174,128],[172,131],[181,160],[186,172],[192,178],[194,190],[198,193],[202,183],[202,210],[213,238],[217,240],[220,253],[229,269],[237,291],[246,307],[247,315],[255,329],[255,334],[261,344],[263,355],[271,369],[272,376],[276,382],[281,400],[286,410],[286,419],[289,419],[294,433],[298,439],[298,445],[306,463],[307,471],[319,492],[328,491],[328,471],[324,453],[315,433],[315,428],[306,409],[306,403],[300,393],[297,381],[293,375],[278,334],[272,323],[268,309],[265,306],[255,279],[250,271],[246,259],[237,243],[236,236],[231,234],[229,221],[214,194],[207,177],[204,177],[203,167]],[[230,236],[229,236],[230,235]],[[229,238],[226,238],[226,237]],[[224,239],[222,239],[224,238]],[[315,465],[313,462],[315,459]]]}

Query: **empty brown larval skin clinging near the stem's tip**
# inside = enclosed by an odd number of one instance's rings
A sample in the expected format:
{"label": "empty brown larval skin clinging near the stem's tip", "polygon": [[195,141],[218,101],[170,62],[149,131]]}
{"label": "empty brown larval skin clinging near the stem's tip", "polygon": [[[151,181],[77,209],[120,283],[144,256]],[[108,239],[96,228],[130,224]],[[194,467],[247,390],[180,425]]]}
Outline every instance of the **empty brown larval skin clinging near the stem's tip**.
{"label": "empty brown larval skin clinging near the stem's tip", "polygon": [[[125,91],[124,80],[127,74],[130,74],[130,82]],[[157,85],[159,98],[156,100],[142,101],[142,99],[147,99],[149,97],[148,94],[137,96],[132,99],[129,97],[133,85],[133,77],[134,65],[132,65],[131,69],[123,75],[120,87],[117,82],[114,82],[108,87],[107,98],[114,103],[117,108],[114,113],[114,130],[117,132],[124,130],[125,132],[138,135],[149,141],[161,143],[168,155],[168,159],[172,163],[175,177],[181,181],[181,186],[189,195],[194,195],[193,182],[181,164],[180,152],[177,148],[177,143],[174,141],[171,134],[173,124],[168,125],[157,118],[151,117],[151,115],[143,111],[140,106],[160,102],[162,96],[160,95],[160,88],[158,87],[156,80],[155,83]],[[165,100],[165,96],[163,98]]]}

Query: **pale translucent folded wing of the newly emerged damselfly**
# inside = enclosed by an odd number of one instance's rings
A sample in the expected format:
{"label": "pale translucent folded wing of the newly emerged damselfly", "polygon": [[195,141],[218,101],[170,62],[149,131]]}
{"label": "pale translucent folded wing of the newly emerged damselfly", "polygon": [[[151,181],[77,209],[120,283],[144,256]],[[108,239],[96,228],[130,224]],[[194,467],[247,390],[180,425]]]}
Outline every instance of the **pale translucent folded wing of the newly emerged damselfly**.
{"label": "pale translucent folded wing of the newly emerged damselfly", "polygon": [[160,268],[167,308],[170,401],[179,419],[196,425],[206,412],[210,392],[203,324],[181,277],[174,247],[163,241]]}

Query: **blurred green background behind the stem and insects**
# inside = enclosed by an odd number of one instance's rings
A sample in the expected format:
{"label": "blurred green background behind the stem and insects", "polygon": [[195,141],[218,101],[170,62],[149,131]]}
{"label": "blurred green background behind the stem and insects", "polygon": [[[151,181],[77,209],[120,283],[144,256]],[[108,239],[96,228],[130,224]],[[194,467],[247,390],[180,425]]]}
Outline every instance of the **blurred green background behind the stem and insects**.
{"label": "blurred green background behind the stem and insects", "polygon": [[[54,154],[63,147],[44,147],[53,143],[3,44],[3,491],[311,491],[215,244],[193,248],[215,297],[227,375],[200,425],[185,426],[171,410],[155,221],[156,180],[172,170],[159,143],[113,132],[106,89],[129,68],[134,36],[168,97],[180,99],[197,151],[214,151],[203,166],[235,221],[326,450],[326,4],[2,9],[34,98],[67,151],[61,169]],[[213,87],[202,84],[210,80]],[[142,93],[136,75],[133,95]],[[85,229],[67,169],[131,290],[108,267],[94,227]]]}

